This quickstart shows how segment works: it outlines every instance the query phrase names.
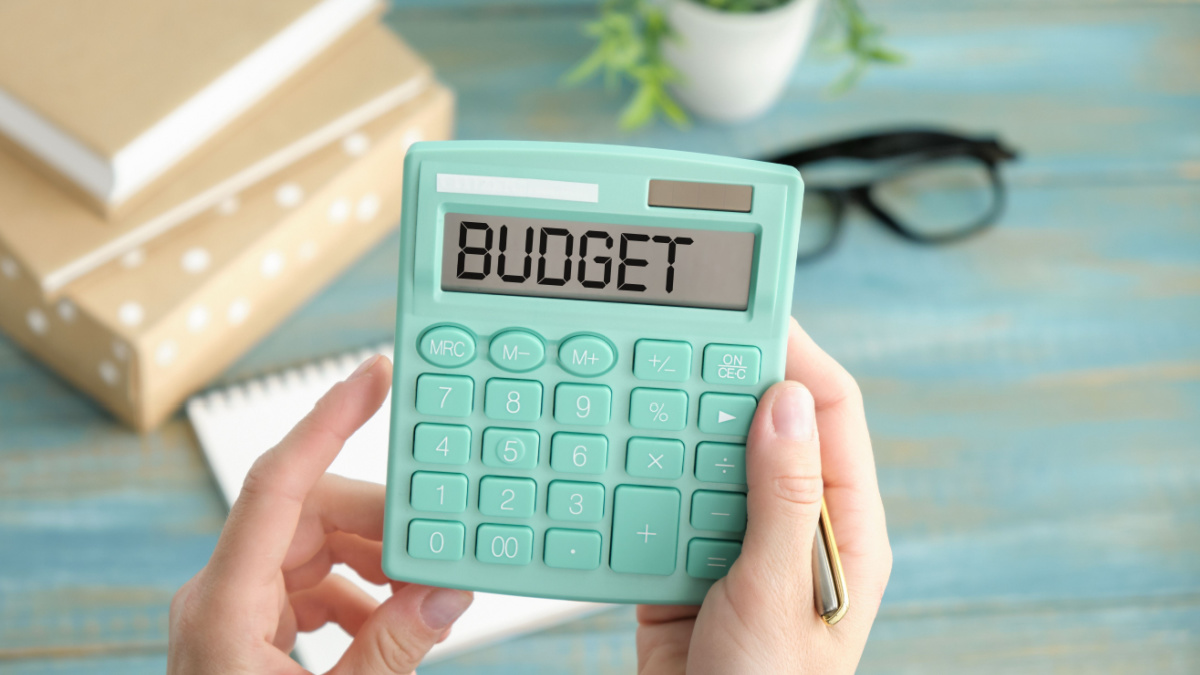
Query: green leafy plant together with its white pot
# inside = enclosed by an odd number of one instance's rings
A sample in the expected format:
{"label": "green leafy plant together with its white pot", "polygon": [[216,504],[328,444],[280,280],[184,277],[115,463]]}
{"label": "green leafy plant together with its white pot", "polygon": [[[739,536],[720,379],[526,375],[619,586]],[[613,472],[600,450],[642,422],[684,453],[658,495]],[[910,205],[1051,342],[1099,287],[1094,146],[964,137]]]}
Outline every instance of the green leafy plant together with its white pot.
{"label": "green leafy plant together with its white pot", "polygon": [[[881,43],[882,29],[858,0],[830,0],[840,28],[839,48],[852,64],[832,86],[854,84],[870,64],[902,60]],[[620,126],[640,127],[656,115],[678,126],[696,114],[740,121],[766,112],[812,35],[820,0],[602,0],[600,16],[584,25],[595,49],[569,84],[602,73],[606,84],[634,84]]]}

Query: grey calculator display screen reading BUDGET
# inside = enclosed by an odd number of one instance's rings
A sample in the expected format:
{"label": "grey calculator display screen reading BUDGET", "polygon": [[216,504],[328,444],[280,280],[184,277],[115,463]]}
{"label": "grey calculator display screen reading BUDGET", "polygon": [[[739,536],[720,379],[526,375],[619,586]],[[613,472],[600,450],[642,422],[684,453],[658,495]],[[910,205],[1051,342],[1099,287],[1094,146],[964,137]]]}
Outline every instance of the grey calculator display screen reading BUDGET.
{"label": "grey calculator display screen reading BUDGET", "polygon": [[755,234],[446,214],[442,289],[745,310]]}

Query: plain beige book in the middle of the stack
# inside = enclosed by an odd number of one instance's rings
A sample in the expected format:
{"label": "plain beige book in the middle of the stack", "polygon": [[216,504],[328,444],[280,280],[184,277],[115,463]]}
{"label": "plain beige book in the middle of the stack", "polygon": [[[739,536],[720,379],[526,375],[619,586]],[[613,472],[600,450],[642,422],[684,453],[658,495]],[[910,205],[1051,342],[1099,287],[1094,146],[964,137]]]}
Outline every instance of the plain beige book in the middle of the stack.
{"label": "plain beige book in the middle of the stack", "polygon": [[0,244],[46,295],[54,295],[329,143],[355,151],[350,131],[413,100],[431,82],[420,56],[386,28],[371,25],[116,220],[101,217],[42,172],[0,151]]}

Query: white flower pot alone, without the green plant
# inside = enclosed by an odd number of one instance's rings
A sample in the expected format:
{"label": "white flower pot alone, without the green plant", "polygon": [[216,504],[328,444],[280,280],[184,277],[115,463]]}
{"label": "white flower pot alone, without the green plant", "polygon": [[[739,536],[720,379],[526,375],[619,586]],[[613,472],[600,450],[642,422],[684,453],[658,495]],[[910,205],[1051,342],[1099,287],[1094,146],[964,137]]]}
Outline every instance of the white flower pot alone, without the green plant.
{"label": "white flower pot alone, without the green plant", "polygon": [[716,121],[764,113],[804,53],[818,1],[731,13],[694,0],[665,0],[678,38],[666,41],[662,52],[683,76],[673,86],[676,95],[696,114]]}

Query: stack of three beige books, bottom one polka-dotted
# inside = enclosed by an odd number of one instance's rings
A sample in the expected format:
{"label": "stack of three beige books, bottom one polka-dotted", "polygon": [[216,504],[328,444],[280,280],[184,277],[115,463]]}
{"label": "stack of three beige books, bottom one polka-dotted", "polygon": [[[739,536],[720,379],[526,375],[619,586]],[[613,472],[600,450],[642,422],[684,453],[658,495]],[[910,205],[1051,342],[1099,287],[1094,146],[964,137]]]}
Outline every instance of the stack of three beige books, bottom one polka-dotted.
{"label": "stack of three beige books, bottom one polka-dotted", "polygon": [[378,243],[454,117],[380,11],[0,2],[0,329],[150,429]]}

